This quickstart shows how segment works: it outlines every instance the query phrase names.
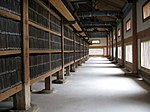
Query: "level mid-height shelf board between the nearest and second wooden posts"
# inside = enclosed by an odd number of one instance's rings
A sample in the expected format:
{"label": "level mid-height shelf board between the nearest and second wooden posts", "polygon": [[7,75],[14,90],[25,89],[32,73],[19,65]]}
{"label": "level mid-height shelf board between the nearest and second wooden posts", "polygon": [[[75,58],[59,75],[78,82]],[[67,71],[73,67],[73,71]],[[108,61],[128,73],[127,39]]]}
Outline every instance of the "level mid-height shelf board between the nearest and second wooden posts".
{"label": "level mid-height shelf board between the nearest and second wooden posts", "polygon": [[38,53],[60,53],[61,50],[30,50],[30,54],[38,54]]}

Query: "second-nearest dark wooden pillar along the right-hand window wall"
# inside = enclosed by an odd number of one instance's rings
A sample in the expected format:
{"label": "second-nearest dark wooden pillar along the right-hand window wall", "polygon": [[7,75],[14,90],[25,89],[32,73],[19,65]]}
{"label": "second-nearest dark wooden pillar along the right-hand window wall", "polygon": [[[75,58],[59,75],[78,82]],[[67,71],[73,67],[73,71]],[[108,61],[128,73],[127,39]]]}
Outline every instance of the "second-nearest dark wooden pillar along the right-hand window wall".
{"label": "second-nearest dark wooden pillar along the right-hand window wall", "polygon": [[124,21],[121,19],[121,54],[122,54],[122,60],[121,60],[121,66],[124,67],[125,62],[125,49],[124,49]]}

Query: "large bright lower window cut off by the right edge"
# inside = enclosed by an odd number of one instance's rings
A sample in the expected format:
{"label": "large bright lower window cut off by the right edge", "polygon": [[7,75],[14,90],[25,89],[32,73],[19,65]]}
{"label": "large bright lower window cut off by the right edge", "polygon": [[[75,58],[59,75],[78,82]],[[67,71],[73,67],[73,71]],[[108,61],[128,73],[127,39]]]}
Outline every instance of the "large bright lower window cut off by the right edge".
{"label": "large bright lower window cut off by the right edge", "polygon": [[141,42],[141,66],[150,69],[150,40]]}

